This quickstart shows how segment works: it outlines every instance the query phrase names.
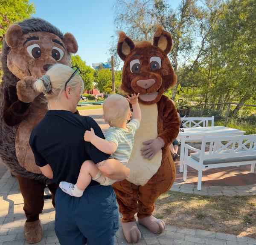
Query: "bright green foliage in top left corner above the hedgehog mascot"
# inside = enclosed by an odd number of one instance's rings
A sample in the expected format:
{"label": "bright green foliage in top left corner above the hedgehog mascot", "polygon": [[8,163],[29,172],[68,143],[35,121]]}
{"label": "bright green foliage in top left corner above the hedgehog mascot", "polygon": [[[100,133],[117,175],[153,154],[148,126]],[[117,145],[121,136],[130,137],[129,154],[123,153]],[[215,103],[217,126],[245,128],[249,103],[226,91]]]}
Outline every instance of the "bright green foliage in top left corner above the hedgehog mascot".
{"label": "bright green foliage in top left corner above the hedgehog mascot", "polygon": [[0,1],[0,51],[7,28],[15,23],[29,18],[35,13],[35,5],[29,0]]}

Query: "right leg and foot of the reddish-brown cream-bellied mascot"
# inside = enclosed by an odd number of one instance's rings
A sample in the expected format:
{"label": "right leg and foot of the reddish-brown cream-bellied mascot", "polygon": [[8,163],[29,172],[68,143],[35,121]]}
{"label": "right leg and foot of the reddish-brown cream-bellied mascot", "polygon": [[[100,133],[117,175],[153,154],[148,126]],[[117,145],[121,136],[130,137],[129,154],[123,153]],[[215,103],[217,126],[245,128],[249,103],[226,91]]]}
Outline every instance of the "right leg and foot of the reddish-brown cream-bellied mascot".
{"label": "right leg and foot of the reddish-brown cream-bellied mascot", "polygon": [[164,192],[168,191],[176,176],[175,165],[170,154],[162,161],[157,173],[139,188],[138,221],[153,233],[161,233],[165,229],[165,223],[152,216],[154,202]]}

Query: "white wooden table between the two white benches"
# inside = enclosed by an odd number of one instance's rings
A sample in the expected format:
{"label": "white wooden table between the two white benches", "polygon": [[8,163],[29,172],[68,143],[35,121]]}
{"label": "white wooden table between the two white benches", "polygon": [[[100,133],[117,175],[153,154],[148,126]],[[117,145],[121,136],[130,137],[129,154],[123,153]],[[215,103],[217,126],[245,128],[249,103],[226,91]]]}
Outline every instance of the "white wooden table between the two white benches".
{"label": "white wooden table between the two white benches", "polygon": [[246,131],[224,126],[182,128],[184,132],[179,132],[177,138],[180,139],[180,173],[183,172],[185,142],[202,141],[204,136],[232,136],[243,135]]}

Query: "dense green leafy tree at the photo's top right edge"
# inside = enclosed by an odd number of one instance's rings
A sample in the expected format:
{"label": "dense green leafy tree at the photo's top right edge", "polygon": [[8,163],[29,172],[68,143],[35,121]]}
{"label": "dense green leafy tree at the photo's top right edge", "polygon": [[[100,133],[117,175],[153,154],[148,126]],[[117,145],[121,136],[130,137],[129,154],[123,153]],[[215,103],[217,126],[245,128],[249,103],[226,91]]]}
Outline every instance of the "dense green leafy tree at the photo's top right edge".
{"label": "dense green leafy tree at the photo's top right edge", "polygon": [[[220,59],[227,68],[234,100],[245,103],[256,94],[256,2],[230,0],[215,29]],[[233,110],[236,114],[241,105]]]}

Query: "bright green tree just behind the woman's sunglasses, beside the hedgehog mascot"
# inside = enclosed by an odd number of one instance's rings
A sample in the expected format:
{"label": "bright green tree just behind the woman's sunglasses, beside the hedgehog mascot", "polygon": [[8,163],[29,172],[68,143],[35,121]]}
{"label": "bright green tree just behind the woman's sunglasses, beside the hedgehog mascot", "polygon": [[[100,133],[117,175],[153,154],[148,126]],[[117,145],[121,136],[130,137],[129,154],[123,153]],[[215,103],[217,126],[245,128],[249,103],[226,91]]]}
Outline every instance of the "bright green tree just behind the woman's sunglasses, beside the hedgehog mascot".
{"label": "bright green tree just behind the woman's sunglasses, beside the hedgehog mascot", "polygon": [[79,70],[81,71],[80,76],[84,81],[84,89],[91,90],[93,88],[94,69],[91,68],[90,66],[87,66],[85,61],[83,61],[79,55],[72,55],[71,63],[72,63],[72,66],[79,67]]}

